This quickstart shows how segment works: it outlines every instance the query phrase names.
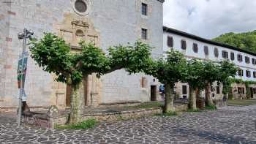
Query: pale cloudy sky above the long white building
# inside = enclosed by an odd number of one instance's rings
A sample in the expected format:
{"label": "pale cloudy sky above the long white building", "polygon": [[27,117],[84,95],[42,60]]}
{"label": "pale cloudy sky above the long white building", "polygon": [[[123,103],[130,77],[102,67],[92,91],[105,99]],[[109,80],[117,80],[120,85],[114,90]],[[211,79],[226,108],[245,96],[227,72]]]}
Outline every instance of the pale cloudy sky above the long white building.
{"label": "pale cloudy sky above the long white building", "polygon": [[165,0],[164,26],[212,39],[256,30],[256,0]]}

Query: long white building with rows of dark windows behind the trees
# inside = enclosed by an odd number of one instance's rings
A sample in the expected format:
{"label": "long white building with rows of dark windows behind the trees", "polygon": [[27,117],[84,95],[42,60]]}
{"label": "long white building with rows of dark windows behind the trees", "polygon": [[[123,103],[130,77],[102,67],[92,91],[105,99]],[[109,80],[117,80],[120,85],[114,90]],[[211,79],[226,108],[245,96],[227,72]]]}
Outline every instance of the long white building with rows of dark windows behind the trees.
{"label": "long white building with rows of dark windows behind the trees", "polygon": [[[211,61],[229,59],[240,68],[236,75],[237,79],[242,79],[244,81],[256,80],[256,53],[197,37],[193,34],[188,34],[184,31],[178,31],[165,26],[163,27],[163,30],[164,52],[170,50],[170,48],[174,48],[189,59],[199,58]],[[217,86],[217,84],[215,84],[212,90],[211,96],[213,96],[213,99],[222,98],[222,86]],[[178,83],[176,85],[178,96],[187,98],[189,97],[188,91],[189,86],[186,83]],[[249,92],[250,98],[256,98],[256,86],[254,85],[250,85],[249,88],[246,88],[244,84],[234,83],[230,94],[236,99],[241,99],[246,97],[246,92]],[[202,96],[204,96],[204,94],[202,94]]]}

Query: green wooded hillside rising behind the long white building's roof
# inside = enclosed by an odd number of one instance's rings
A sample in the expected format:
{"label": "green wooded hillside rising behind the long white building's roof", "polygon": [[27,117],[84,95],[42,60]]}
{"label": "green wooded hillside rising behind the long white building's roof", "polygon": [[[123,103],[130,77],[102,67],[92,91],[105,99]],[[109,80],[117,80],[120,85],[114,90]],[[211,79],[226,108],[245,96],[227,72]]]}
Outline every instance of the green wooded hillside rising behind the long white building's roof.
{"label": "green wooded hillside rising behind the long white building's roof", "polygon": [[230,32],[227,34],[222,34],[213,40],[256,53],[256,30],[239,34]]}

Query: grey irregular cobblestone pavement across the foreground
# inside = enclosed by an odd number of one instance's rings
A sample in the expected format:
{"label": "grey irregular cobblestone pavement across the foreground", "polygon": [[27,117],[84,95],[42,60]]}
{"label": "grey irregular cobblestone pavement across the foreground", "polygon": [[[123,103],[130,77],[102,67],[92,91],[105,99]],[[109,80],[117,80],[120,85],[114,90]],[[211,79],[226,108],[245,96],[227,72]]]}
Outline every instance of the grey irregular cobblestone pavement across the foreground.
{"label": "grey irregular cobblestone pavement across the foreground", "polygon": [[0,143],[256,144],[255,119],[256,106],[224,107],[176,117],[153,116],[100,124],[88,130],[17,129],[10,118],[0,117]]}

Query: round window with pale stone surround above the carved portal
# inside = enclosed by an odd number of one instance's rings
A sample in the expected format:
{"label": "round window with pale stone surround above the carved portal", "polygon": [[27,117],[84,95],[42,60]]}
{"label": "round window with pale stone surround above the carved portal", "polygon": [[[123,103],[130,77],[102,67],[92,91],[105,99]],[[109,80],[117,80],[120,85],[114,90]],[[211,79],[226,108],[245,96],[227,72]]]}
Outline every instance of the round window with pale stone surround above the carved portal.
{"label": "round window with pale stone surround above the carved portal", "polygon": [[89,12],[89,4],[86,0],[73,0],[72,5],[79,15],[87,15]]}

